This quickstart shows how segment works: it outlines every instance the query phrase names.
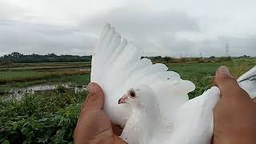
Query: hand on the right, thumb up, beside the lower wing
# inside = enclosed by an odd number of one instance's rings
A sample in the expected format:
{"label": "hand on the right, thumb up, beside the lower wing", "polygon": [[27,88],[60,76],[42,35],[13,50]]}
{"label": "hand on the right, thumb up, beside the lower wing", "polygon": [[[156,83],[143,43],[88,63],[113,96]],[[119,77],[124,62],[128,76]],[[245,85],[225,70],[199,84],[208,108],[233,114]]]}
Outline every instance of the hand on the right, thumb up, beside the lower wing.
{"label": "hand on the right, thumb up, beside the lower wing", "polygon": [[256,103],[230,76],[226,66],[218,68],[214,84],[221,98],[214,107],[214,144],[255,144]]}

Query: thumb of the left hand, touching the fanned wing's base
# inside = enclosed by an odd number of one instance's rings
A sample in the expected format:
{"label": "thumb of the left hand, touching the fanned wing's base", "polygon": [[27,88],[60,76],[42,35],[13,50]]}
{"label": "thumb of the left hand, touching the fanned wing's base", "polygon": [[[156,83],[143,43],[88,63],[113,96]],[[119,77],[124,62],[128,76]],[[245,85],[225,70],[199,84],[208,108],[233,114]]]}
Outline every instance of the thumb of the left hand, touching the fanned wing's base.
{"label": "thumb of the left hand, touching the fanned wing's base", "polygon": [[89,84],[90,94],[86,97],[86,102],[84,102],[82,109],[93,109],[102,110],[104,105],[104,94],[102,88],[98,86],[97,83],[91,82]]}

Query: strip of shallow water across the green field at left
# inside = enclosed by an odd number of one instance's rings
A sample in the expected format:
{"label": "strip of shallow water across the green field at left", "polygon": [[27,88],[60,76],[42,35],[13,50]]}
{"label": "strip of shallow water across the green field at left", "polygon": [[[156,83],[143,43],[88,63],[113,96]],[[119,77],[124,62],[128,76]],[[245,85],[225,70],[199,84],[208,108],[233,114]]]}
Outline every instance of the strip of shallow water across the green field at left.
{"label": "strip of shallow water across the green field at left", "polygon": [[24,94],[35,94],[38,92],[45,92],[56,89],[58,86],[63,86],[65,89],[74,90],[74,93],[80,93],[83,90],[86,90],[86,86],[74,86],[71,82],[62,83],[62,84],[40,84],[34,86],[27,86],[24,88],[14,88],[6,93],[13,98],[22,98]]}

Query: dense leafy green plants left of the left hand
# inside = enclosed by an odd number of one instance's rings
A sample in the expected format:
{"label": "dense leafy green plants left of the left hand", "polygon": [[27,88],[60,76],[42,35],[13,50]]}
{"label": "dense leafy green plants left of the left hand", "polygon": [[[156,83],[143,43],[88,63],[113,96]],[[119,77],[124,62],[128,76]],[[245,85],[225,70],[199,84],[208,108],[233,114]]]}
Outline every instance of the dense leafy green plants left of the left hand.
{"label": "dense leafy green plants left of the left hand", "polygon": [[0,99],[0,142],[73,143],[73,133],[86,94],[54,90]]}

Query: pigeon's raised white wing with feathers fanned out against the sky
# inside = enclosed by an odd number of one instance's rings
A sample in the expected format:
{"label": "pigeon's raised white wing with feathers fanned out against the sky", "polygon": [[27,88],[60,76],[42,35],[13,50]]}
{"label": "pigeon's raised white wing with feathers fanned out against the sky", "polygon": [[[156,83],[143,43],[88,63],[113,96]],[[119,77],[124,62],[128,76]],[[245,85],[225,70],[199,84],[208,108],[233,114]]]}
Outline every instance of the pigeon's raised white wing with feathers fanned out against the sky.
{"label": "pigeon's raised white wing with feathers fanned out against the sky", "polygon": [[91,82],[102,87],[106,95],[104,110],[110,120],[124,126],[130,107],[118,105],[118,99],[134,85],[153,86],[171,78],[180,78],[179,74],[167,70],[162,63],[153,64],[150,59],[142,58],[138,47],[121,38],[114,27],[106,24],[92,56]]}

